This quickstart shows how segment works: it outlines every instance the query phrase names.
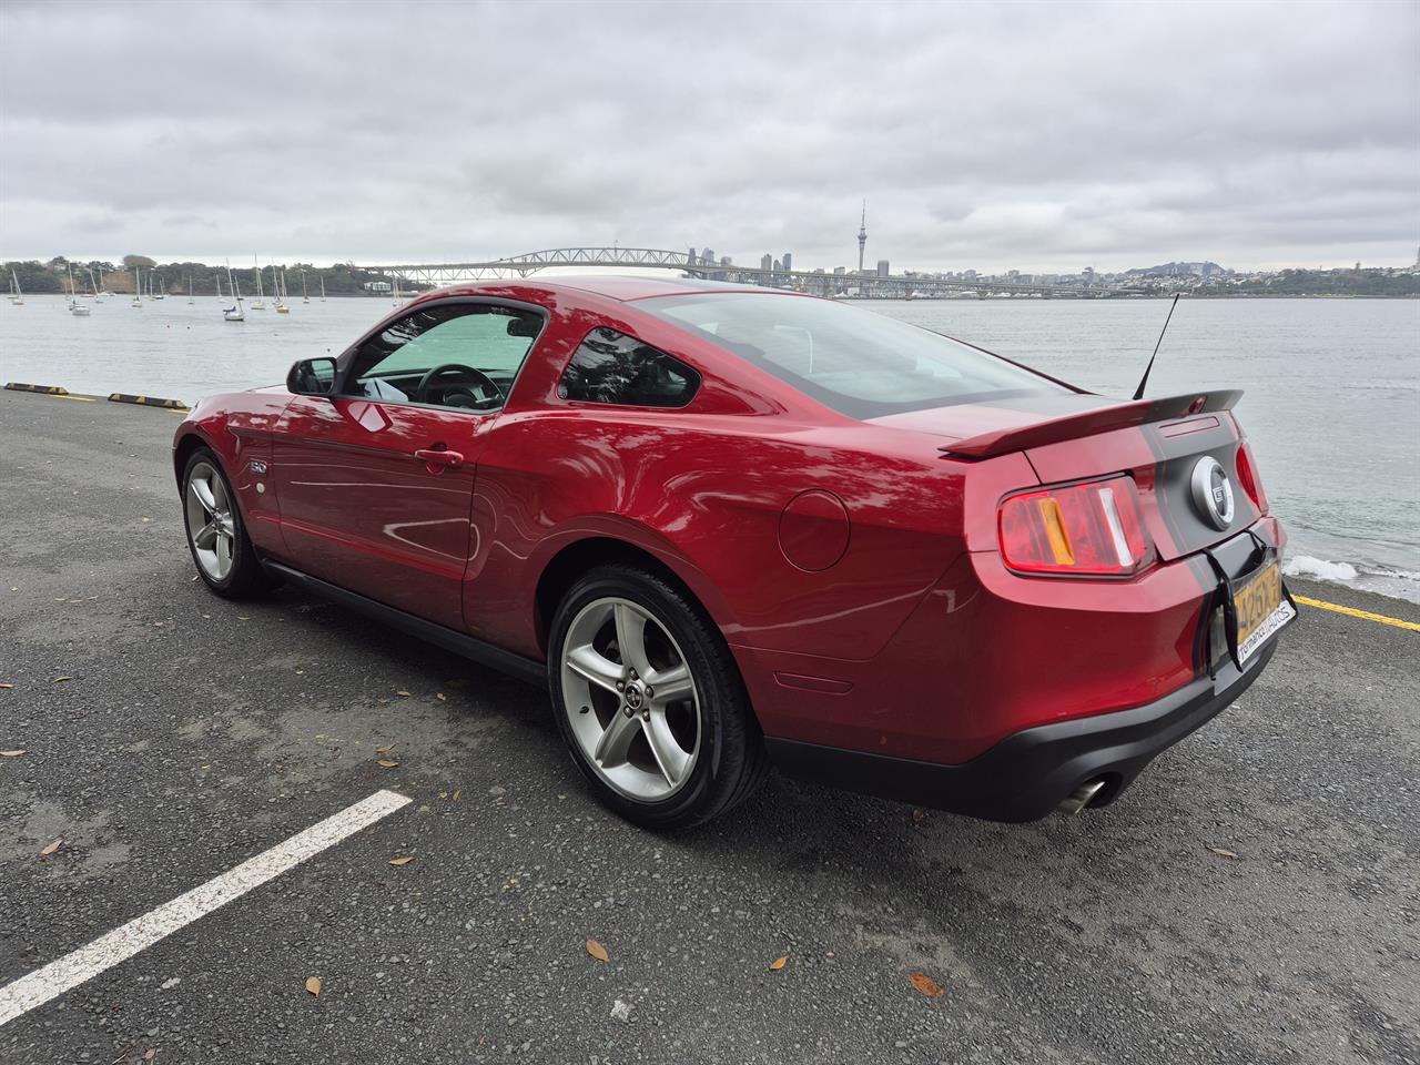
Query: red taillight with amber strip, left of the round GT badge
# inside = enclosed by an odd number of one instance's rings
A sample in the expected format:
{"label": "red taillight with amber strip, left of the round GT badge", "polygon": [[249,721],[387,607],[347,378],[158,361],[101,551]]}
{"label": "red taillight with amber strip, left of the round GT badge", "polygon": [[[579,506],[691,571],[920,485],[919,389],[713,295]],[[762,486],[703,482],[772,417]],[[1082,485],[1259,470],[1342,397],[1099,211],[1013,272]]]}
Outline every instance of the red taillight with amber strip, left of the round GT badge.
{"label": "red taillight with amber strip, left of the round GT badge", "polygon": [[1130,577],[1153,555],[1129,477],[1027,491],[1001,504],[1001,557],[1011,569]]}

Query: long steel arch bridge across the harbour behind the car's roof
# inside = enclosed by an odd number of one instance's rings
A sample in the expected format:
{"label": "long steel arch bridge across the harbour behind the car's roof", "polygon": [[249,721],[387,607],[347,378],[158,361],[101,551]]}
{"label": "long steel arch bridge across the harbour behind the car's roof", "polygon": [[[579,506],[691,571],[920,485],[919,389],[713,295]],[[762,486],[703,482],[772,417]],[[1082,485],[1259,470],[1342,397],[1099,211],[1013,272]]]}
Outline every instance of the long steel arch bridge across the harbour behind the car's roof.
{"label": "long steel arch bridge across the harbour behind the car's roof", "polygon": [[733,284],[770,285],[794,288],[805,293],[831,295],[858,290],[873,295],[933,294],[946,290],[1022,294],[1059,294],[1102,297],[1102,288],[1079,285],[1010,284],[994,281],[949,281],[944,278],[916,277],[905,274],[829,274],[819,270],[764,270],[748,266],[714,266],[692,260],[687,251],[667,251],[649,247],[558,247],[541,251],[527,251],[520,256],[494,258],[483,263],[400,263],[393,266],[361,267],[368,273],[398,278],[400,283],[433,285],[456,284],[459,281],[506,281],[525,278],[548,267],[562,268],[606,268],[628,270],[677,270],[694,277]]}

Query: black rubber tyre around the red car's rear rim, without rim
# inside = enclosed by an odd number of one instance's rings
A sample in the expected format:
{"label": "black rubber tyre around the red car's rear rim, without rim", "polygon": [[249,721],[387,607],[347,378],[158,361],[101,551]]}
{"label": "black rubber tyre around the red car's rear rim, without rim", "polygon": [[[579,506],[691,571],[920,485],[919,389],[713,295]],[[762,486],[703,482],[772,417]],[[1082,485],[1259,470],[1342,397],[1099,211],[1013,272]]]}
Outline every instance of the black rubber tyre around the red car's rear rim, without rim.
{"label": "black rubber tyre around the red car's rear rim, without rim", "polygon": [[[562,676],[568,632],[584,608],[608,598],[635,604],[669,632],[699,693],[699,753],[689,777],[665,799],[640,799],[612,787],[574,733]],[[572,760],[598,798],[628,821],[652,829],[699,825],[747,799],[768,775],[764,737],[720,629],[684,588],[660,575],[608,564],[578,579],[552,618],[548,679],[552,713]]]}

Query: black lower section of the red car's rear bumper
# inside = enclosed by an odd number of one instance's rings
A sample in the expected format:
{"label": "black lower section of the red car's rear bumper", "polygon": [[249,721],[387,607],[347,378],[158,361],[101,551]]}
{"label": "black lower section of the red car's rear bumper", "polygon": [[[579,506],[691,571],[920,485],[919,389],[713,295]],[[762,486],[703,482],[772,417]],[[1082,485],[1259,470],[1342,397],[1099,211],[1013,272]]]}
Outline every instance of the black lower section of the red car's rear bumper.
{"label": "black lower section of the red car's rear bumper", "polygon": [[970,761],[937,764],[767,737],[785,772],[836,788],[949,809],[987,821],[1037,821],[1075,788],[1105,787],[1113,801],[1153,758],[1241,696],[1277,652],[1274,639],[1238,670],[1227,665],[1147,706],[1055,721],[1008,736]]}

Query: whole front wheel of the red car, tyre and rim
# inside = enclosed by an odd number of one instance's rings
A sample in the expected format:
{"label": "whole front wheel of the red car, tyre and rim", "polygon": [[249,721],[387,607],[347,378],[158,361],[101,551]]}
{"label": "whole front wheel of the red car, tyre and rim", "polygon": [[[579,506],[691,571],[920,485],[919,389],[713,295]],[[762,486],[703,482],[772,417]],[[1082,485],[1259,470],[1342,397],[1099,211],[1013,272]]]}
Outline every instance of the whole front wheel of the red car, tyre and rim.
{"label": "whole front wheel of the red car, tyre and rim", "polygon": [[222,466],[206,447],[187,459],[182,480],[183,524],[197,575],[229,599],[260,595],[271,585],[241,523],[241,511]]}

